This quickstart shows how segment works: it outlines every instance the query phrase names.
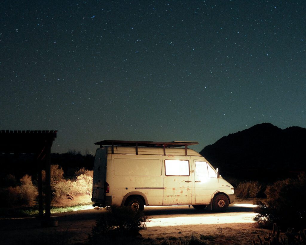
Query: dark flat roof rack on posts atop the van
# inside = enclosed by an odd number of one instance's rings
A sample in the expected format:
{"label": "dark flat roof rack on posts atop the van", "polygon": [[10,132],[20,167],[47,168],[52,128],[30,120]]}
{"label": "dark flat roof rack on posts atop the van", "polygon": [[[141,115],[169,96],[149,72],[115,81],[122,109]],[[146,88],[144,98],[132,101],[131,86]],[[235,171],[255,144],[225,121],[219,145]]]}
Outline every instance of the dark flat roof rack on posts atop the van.
{"label": "dark flat roof rack on posts atop the van", "polygon": [[187,146],[188,145],[198,145],[199,142],[196,141],[171,141],[171,142],[160,142],[160,141],[126,141],[126,140],[103,140],[95,142],[95,145],[111,145],[112,154],[114,154],[114,145],[116,146],[136,146],[136,155],[138,155],[138,146],[146,147],[162,147],[164,148],[164,155],[166,155],[166,147],[180,147],[185,146],[185,155],[187,156]]}

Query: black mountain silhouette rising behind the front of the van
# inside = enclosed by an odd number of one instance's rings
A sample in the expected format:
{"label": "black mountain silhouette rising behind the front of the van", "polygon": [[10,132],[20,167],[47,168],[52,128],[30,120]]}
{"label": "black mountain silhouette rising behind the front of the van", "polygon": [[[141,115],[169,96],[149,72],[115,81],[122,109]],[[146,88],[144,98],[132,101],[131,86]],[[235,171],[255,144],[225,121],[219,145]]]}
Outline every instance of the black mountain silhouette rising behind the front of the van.
{"label": "black mountain silhouette rising behind the front of the van", "polygon": [[272,182],[305,171],[306,129],[262,123],[224,136],[200,154],[223,177]]}

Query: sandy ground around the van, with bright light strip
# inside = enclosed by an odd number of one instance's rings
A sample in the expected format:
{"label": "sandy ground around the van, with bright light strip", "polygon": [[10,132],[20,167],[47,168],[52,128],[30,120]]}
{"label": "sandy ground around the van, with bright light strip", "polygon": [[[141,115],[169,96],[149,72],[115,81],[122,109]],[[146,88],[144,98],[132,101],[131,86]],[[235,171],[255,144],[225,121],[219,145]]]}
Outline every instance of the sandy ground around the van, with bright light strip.
{"label": "sandy ground around the van, with bright light strip", "polygon": [[[57,227],[43,228],[42,221],[35,217],[0,219],[0,243],[88,243],[88,234],[95,220],[105,210],[93,209],[90,205],[86,208],[52,214],[58,220]],[[253,221],[255,214],[252,212],[252,203],[245,201],[234,202],[226,213],[199,211],[188,206],[145,207],[144,213],[150,221],[147,222],[147,229],[140,232],[144,240],[175,240],[197,234],[210,241],[210,244],[252,244],[253,239],[257,241],[257,234],[263,237],[269,232],[257,227]]]}

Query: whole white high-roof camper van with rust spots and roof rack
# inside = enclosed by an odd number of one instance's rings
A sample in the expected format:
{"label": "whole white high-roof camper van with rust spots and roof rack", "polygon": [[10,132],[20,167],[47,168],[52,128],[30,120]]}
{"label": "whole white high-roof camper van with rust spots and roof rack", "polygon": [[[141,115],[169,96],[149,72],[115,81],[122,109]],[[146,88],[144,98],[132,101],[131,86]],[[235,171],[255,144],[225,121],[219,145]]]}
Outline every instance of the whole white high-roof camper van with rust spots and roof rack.
{"label": "whole white high-roof camper van with rust spots and roof rack", "polygon": [[[96,142],[93,206],[192,205],[223,211],[235,201],[234,188],[199,153],[198,142]],[[184,148],[178,148],[184,147]]]}

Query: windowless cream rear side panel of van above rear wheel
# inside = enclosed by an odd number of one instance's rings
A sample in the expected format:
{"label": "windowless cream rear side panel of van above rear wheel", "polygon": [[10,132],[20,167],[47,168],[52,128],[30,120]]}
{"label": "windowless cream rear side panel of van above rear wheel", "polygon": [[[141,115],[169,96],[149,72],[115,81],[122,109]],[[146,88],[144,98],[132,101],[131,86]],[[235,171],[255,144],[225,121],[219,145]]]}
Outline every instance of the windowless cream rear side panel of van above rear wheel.
{"label": "windowless cream rear side panel of van above rear wheel", "polygon": [[112,199],[114,204],[121,205],[124,197],[138,191],[144,196],[146,205],[162,205],[161,156],[117,153],[112,156],[112,191],[114,193]]}

